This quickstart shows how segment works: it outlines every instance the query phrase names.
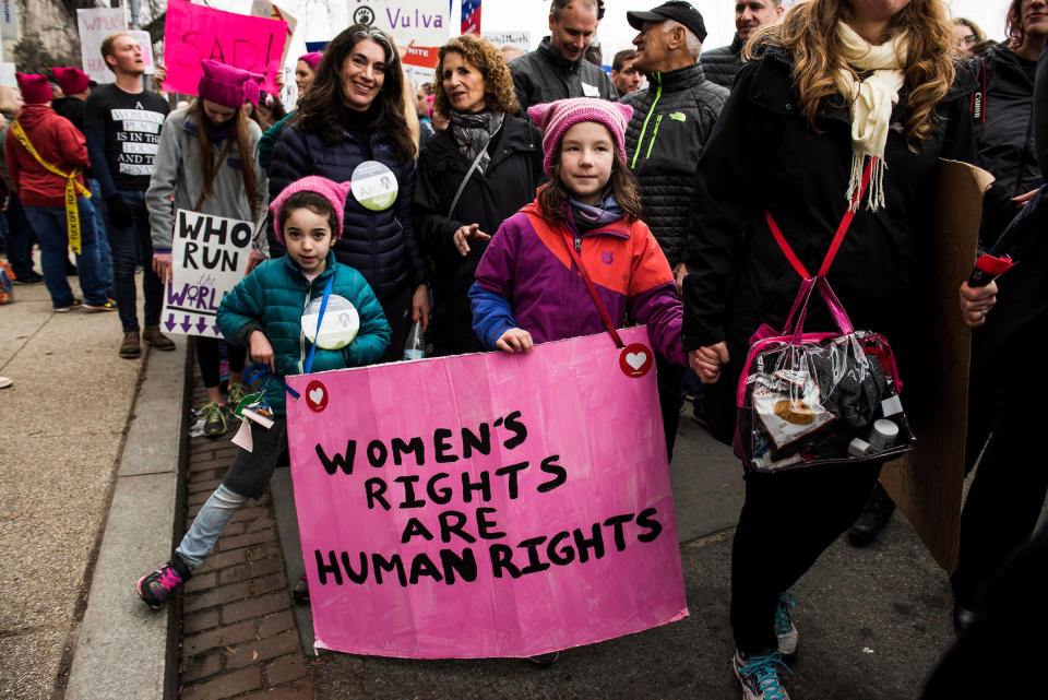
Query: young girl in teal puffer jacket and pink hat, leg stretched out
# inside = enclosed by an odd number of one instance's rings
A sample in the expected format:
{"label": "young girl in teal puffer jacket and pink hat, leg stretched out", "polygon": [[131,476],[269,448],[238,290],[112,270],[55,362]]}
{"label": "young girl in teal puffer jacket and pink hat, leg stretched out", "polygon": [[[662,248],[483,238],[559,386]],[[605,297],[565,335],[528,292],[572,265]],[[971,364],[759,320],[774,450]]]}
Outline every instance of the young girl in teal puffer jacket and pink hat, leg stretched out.
{"label": "young girl in teal puffer jacket and pink hat, leg stretched out", "polygon": [[[336,185],[315,176],[287,186],[270,207],[287,254],[259,265],[222,300],[218,325],[223,334],[230,343],[246,346],[251,357],[269,369],[262,391],[273,425],[265,428],[248,422],[251,451],[237,452],[222,485],[203,505],[170,561],[139,580],[139,596],[155,610],[190,578],[233,514],[248,498],[262,496],[277,460],[287,451],[283,378],[306,371],[310,356],[310,371],[370,365],[390,344],[390,325],[371,287],[359,272],[335,262],[331,252],[342,232],[348,191],[348,182]],[[319,308],[324,297],[323,318],[336,319],[336,323],[318,321],[314,307]],[[354,309],[359,317],[355,336]]]}

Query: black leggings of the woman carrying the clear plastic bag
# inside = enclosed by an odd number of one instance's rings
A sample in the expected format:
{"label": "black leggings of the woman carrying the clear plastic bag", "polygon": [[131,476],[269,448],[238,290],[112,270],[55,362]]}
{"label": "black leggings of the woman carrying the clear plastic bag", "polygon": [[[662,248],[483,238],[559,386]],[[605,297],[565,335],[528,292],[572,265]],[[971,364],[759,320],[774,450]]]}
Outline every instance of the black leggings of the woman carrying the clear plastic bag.
{"label": "black leggings of the woman carrying the clear plastic bag", "polygon": [[775,608],[855,522],[881,462],[748,474],[731,548],[731,627],[745,654],[776,648]]}

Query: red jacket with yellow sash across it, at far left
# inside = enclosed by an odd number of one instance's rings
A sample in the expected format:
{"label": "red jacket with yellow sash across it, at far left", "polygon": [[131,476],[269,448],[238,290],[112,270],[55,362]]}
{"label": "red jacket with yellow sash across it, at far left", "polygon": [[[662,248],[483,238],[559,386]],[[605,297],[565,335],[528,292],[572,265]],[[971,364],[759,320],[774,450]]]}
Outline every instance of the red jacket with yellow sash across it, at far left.
{"label": "red jacket with yellow sash across it, at far left", "polygon": [[[29,143],[40,157],[63,173],[73,168],[81,169],[91,165],[87,159],[87,142],[84,134],[76,130],[66,117],[59,117],[48,105],[26,105],[19,115],[19,123],[28,137]],[[61,178],[44,168],[36,158],[14,138],[14,131],[8,129],[3,144],[3,157],[8,173],[19,193],[19,199],[27,206],[64,206],[66,178]],[[83,185],[84,176],[76,180]],[[78,195],[79,190],[78,190]]]}

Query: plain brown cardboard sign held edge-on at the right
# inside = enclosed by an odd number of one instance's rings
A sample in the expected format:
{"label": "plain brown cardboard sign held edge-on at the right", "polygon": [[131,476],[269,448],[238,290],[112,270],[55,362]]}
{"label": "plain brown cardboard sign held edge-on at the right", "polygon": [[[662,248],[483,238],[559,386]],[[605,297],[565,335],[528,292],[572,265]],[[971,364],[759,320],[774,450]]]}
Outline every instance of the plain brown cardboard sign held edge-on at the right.
{"label": "plain brown cardboard sign held edge-on at the right", "polygon": [[917,448],[884,466],[881,482],[943,569],[957,566],[968,368],[972,331],[957,305],[957,288],[975,264],[982,193],[993,181],[985,170],[956,161],[939,162],[936,232],[929,250],[930,281],[919,298],[927,353],[903,368],[903,401]]}

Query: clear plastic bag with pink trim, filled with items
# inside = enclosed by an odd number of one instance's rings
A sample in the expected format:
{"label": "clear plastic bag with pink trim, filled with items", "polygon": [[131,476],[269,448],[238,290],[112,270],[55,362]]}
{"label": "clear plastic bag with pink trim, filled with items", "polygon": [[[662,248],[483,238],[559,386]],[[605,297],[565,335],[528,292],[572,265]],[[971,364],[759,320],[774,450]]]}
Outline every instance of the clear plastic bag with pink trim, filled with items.
{"label": "clear plastic bag with pink trim, filled with items", "polygon": [[[838,333],[803,333],[817,287]],[[763,327],[751,344],[739,379],[736,454],[751,471],[775,472],[907,452],[915,438],[900,387],[888,340],[854,331],[825,280],[806,280],[786,328]]]}

